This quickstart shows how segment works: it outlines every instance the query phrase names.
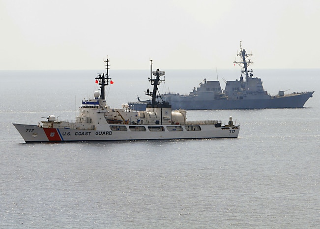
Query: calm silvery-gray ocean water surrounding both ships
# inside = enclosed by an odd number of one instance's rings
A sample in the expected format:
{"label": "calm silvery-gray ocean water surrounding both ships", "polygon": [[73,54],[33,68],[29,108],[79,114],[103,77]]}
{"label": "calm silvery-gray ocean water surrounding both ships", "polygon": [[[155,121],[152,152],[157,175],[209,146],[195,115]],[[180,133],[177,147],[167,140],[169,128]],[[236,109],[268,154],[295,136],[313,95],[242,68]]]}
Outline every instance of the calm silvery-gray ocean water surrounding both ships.
{"label": "calm silvery-gray ocean water surrounding both ships", "polygon": [[[165,70],[165,69],[161,69]],[[312,91],[304,108],[195,110],[237,139],[26,144],[12,123],[74,120],[103,71],[0,71],[0,228],[318,229],[320,69],[258,69],[268,93]],[[166,70],[187,94],[236,70]],[[148,70],[110,70],[112,107],[145,98]]]}

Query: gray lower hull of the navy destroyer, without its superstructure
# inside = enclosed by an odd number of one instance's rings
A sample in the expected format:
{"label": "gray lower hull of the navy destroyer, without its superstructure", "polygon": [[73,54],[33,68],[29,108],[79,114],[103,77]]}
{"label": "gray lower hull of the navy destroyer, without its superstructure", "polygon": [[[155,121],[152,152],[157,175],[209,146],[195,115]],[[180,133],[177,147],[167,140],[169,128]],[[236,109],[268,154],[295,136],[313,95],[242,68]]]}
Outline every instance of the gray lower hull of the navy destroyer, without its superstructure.
{"label": "gray lower hull of the navy destroyer, without its superstructure", "polygon": [[[198,96],[163,96],[170,102],[172,109],[206,110],[206,109],[264,109],[264,108],[301,108],[313,92],[274,96],[269,99],[213,99]],[[140,107],[141,108],[141,107]]]}

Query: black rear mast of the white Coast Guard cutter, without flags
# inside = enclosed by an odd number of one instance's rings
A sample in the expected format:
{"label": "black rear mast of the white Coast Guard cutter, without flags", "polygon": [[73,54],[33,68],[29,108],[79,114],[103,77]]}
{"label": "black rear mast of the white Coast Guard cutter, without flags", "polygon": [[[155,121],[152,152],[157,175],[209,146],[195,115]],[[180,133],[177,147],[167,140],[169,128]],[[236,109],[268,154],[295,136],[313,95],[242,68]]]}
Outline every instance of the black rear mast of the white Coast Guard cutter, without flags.
{"label": "black rear mast of the white Coast Guard cutter, without flags", "polygon": [[[155,77],[153,77],[153,76]],[[150,77],[148,78],[150,84],[153,86],[153,91],[150,92],[149,89],[146,90],[145,95],[152,97],[151,107],[158,107],[159,102],[156,101],[156,98],[161,98],[160,93],[158,91],[158,86],[164,79],[160,79],[160,76],[165,75],[164,71],[160,71],[157,69],[156,71],[152,71],[152,60],[150,60]]]}

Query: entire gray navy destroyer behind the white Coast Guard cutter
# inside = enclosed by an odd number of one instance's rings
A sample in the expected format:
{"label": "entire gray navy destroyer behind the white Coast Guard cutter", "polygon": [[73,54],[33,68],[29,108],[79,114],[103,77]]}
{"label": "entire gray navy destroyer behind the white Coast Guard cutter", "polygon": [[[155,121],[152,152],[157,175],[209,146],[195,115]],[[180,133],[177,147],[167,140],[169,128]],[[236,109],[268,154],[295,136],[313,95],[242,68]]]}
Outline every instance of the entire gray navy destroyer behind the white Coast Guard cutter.
{"label": "entire gray navy destroyer behind the white Coast Guard cutter", "polygon": [[[242,67],[239,80],[226,81],[223,91],[219,81],[206,81],[200,87],[195,87],[189,95],[168,93],[161,98],[172,105],[172,109],[206,110],[206,109],[263,109],[263,108],[299,108],[312,97],[311,92],[294,92],[291,94],[279,91],[271,96],[263,89],[261,78],[254,77],[248,66],[253,62],[240,43],[239,62],[234,64]],[[146,101],[129,102],[132,109],[145,109]]]}

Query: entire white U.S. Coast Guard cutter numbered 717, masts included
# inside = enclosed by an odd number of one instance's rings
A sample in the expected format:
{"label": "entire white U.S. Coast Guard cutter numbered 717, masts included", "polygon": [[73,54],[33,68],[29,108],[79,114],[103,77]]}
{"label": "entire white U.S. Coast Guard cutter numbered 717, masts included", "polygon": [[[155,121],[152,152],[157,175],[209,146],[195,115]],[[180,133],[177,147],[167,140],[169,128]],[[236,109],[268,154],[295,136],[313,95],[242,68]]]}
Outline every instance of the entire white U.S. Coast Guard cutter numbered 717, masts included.
{"label": "entire white U.S. Coast Guard cutter numbered 717, masts included", "polygon": [[[152,61],[151,69],[152,69]],[[59,121],[50,115],[38,125],[13,124],[26,142],[119,141],[151,139],[199,139],[238,137],[239,125],[229,117],[228,125],[218,120],[186,121],[185,110],[173,111],[167,102],[160,102],[158,85],[164,71],[152,71],[148,78],[153,86],[152,97],[145,111],[131,111],[128,104],[110,108],[105,100],[105,87],[112,83],[108,74],[109,59],[105,60],[107,73],[95,78],[100,92],[94,98],[83,100],[75,122]],[[155,76],[155,77],[153,77]]]}

